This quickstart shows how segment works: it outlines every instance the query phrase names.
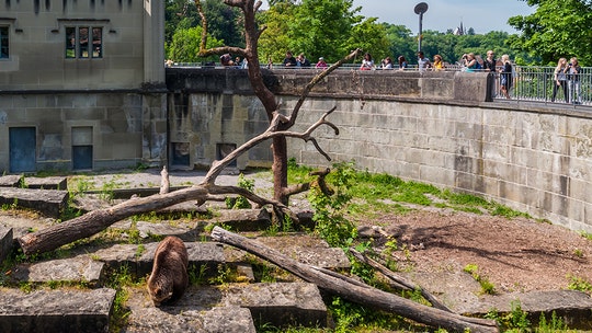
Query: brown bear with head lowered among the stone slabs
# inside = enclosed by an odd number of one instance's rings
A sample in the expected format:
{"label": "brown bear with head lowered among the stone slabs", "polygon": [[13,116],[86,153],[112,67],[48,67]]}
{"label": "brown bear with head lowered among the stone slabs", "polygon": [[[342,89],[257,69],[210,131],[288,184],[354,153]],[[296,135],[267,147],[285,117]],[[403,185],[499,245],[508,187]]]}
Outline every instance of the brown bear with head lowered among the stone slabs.
{"label": "brown bear with head lowered among the stone slabs", "polygon": [[152,273],[148,278],[148,292],[156,307],[179,300],[189,285],[187,249],[173,236],[164,238],[155,251]]}

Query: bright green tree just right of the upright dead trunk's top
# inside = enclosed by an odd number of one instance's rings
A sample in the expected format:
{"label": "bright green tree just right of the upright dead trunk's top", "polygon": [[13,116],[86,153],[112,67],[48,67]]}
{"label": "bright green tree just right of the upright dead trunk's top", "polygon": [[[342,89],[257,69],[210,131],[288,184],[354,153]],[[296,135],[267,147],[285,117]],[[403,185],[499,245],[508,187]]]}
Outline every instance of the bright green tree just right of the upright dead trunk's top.
{"label": "bright green tree just right of the upright dead trunk's top", "polygon": [[309,59],[325,57],[329,61],[341,59],[355,48],[376,54],[376,57],[388,54],[385,28],[374,18],[357,15],[361,8],[353,8],[353,0],[274,3],[261,15],[261,23],[266,25],[259,39],[262,59],[272,57],[278,62],[286,50],[304,53]]}

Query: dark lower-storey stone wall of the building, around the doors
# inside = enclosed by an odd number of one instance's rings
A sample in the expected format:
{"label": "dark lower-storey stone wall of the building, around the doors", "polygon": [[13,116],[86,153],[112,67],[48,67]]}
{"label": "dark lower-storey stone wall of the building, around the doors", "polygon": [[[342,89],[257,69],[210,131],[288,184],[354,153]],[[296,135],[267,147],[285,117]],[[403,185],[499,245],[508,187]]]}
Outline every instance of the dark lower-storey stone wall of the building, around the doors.
{"label": "dark lower-storey stone wall of the building, around the doors", "polygon": [[15,172],[11,170],[11,162],[19,158],[15,149],[26,153],[27,147],[10,138],[14,128],[32,128],[35,135],[29,147],[34,150],[29,172],[76,169],[75,146],[92,147],[91,166],[83,168],[89,170],[134,168],[138,163],[158,166],[167,160],[166,94],[0,94],[0,105],[2,172]]}

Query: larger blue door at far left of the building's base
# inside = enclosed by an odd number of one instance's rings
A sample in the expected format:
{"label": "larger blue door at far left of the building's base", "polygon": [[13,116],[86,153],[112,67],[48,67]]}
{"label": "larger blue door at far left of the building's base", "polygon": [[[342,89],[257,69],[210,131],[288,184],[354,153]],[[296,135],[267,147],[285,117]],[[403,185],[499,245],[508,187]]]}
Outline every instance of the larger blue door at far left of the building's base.
{"label": "larger blue door at far left of the building's base", "polygon": [[36,130],[35,127],[11,127],[10,141],[10,172],[35,172]]}

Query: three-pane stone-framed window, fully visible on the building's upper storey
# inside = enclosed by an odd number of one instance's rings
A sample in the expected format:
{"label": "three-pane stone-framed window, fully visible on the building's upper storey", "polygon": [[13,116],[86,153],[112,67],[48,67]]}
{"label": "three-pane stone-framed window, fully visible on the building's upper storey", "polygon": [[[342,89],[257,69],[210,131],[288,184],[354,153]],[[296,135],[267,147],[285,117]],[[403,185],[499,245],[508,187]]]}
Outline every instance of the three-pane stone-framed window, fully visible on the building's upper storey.
{"label": "three-pane stone-framed window, fully visible on the building's upper storey", "polygon": [[98,26],[66,27],[66,58],[102,58],[103,28]]}

